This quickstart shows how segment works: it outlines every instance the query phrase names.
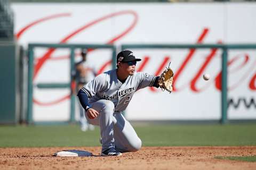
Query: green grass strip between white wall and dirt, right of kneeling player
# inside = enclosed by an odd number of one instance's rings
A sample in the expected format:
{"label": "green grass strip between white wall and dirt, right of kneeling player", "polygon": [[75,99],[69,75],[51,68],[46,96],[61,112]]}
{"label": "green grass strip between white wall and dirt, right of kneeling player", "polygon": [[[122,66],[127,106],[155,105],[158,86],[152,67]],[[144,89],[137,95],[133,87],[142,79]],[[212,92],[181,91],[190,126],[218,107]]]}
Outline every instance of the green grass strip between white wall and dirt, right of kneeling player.
{"label": "green grass strip between white wall and dirt, right of kneeling player", "polygon": [[256,145],[256,124],[151,125],[137,133],[145,146]]}

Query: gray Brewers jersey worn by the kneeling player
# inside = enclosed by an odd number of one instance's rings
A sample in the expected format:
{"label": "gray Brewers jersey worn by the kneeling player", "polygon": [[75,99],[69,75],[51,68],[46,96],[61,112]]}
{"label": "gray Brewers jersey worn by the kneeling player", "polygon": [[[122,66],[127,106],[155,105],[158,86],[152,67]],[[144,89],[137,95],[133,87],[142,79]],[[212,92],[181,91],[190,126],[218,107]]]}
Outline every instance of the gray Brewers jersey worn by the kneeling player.
{"label": "gray Brewers jersey worn by the kneeling player", "polygon": [[107,99],[114,103],[115,111],[122,112],[130,103],[135,91],[153,86],[156,76],[135,72],[124,83],[117,79],[116,69],[99,74],[85,84],[82,90],[89,96],[89,103]]}

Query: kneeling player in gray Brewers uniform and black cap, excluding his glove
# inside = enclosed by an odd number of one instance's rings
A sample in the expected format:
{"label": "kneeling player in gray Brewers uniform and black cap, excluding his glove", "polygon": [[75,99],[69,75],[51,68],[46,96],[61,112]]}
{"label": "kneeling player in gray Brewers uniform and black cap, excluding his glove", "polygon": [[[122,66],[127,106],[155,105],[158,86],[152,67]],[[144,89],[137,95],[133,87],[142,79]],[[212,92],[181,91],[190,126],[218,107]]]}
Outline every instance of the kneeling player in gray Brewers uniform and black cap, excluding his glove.
{"label": "kneeling player in gray Brewers uniform and black cap, excluding his glove", "polygon": [[122,115],[134,92],[145,87],[159,87],[154,75],[136,72],[130,50],[117,55],[117,69],[99,74],[78,92],[89,123],[100,126],[102,156],[121,156],[122,152],[138,151],[141,140]]}

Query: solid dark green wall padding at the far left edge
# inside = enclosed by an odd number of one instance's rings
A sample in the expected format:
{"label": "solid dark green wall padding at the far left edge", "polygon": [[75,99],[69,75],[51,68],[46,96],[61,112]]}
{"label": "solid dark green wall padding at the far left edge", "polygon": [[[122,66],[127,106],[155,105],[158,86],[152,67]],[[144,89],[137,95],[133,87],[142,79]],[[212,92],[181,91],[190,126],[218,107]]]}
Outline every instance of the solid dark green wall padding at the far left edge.
{"label": "solid dark green wall padding at the far left edge", "polygon": [[18,122],[18,55],[13,41],[0,41],[0,124]]}

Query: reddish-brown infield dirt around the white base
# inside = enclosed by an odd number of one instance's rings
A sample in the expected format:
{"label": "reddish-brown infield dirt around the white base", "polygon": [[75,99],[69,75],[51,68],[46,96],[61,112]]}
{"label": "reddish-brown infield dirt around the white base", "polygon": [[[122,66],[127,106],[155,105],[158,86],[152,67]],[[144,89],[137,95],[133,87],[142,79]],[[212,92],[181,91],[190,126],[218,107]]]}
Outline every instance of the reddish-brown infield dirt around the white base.
{"label": "reddish-brown infield dirt around the white base", "polygon": [[[55,157],[61,150],[92,152],[92,157]],[[0,148],[0,169],[256,169],[256,162],[215,159],[255,156],[256,146],[142,147],[121,157],[102,157],[100,147]]]}

